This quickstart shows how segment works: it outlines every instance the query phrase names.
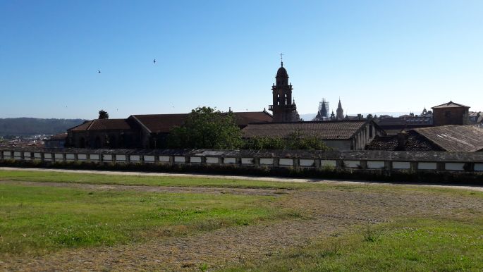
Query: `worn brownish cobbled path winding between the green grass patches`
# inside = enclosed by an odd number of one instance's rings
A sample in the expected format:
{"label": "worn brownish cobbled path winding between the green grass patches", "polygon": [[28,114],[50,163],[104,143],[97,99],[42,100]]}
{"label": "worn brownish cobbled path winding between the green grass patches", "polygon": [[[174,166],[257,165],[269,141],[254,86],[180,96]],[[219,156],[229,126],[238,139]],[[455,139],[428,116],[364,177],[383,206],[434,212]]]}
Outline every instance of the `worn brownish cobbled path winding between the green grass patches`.
{"label": "worn brownish cobbled path winding between the green grass patches", "polygon": [[[35,183],[26,183],[34,185]],[[38,183],[45,186],[56,184]],[[60,184],[78,186],[78,184]],[[105,185],[80,185],[106,190]],[[141,186],[144,187],[144,186]],[[109,190],[144,190],[140,186],[109,185]],[[104,188],[104,189],[103,189]],[[225,188],[159,189],[217,193]],[[148,188],[147,190],[154,190]],[[157,190],[157,189],[156,189]],[[239,193],[271,190],[236,190]],[[437,194],[418,191],[374,193],[371,190],[290,190],[274,205],[300,211],[305,219],[264,222],[243,227],[222,228],[195,235],[160,237],[142,244],[65,249],[37,258],[13,258],[0,268],[14,271],[197,271],[201,264],[222,268],[246,259],[264,259],[290,247],[306,245],[314,237],[338,235],[355,224],[392,221],[411,216],[458,218],[460,213],[483,216],[483,201],[467,194]]]}

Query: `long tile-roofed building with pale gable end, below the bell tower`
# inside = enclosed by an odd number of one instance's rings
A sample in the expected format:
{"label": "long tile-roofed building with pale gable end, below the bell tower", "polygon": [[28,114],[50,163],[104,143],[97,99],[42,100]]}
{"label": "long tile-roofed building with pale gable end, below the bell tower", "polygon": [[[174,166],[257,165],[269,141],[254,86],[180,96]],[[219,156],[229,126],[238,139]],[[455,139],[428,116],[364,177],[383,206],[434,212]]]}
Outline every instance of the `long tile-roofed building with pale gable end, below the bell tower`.
{"label": "long tile-roofed building with pale gable end, below the bell tower", "polygon": [[288,137],[292,132],[314,135],[336,150],[364,150],[374,137],[386,135],[372,120],[336,120],[310,122],[250,123],[243,128],[245,139]]}

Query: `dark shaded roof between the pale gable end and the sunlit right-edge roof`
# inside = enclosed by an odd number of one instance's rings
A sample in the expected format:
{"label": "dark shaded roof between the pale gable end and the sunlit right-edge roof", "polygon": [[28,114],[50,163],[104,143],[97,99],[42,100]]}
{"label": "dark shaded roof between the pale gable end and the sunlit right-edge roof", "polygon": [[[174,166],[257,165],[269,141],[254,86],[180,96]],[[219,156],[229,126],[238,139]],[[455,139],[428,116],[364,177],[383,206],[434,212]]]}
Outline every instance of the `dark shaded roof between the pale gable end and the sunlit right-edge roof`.
{"label": "dark shaded roof between the pale gable end and the sunlit right-edge roof", "polygon": [[405,140],[399,145],[398,135],[376,136],[372,142],[367,144],[367,150],[386,150],[386,151],[444,151],[441,147],[427,140],[416,132],[404,133]]}

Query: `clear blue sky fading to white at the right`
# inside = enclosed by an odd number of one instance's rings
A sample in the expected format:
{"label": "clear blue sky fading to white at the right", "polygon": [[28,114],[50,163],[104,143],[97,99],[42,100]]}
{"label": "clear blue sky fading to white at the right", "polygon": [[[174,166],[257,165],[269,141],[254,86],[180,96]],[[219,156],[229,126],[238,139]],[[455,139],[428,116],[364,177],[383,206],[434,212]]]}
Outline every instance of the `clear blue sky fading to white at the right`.
{"label": "clear blue sky fading to white at the right", "polygon": [[482,0],[0,0],[0,118],[262,111],[280,52],[299,113],[483,111]]}

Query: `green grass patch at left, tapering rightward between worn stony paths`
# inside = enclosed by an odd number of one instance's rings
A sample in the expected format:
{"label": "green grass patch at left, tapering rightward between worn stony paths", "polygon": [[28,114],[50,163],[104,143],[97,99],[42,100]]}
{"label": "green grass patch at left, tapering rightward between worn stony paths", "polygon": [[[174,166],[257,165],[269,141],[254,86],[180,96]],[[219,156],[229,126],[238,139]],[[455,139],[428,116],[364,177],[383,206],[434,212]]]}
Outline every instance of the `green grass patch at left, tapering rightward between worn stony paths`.
{"label": "green grass patch at left, tapering rightward between worn stony paths", "polygon": [[140,242],[290,216],[274,197],[0,184],[0,256]]}

